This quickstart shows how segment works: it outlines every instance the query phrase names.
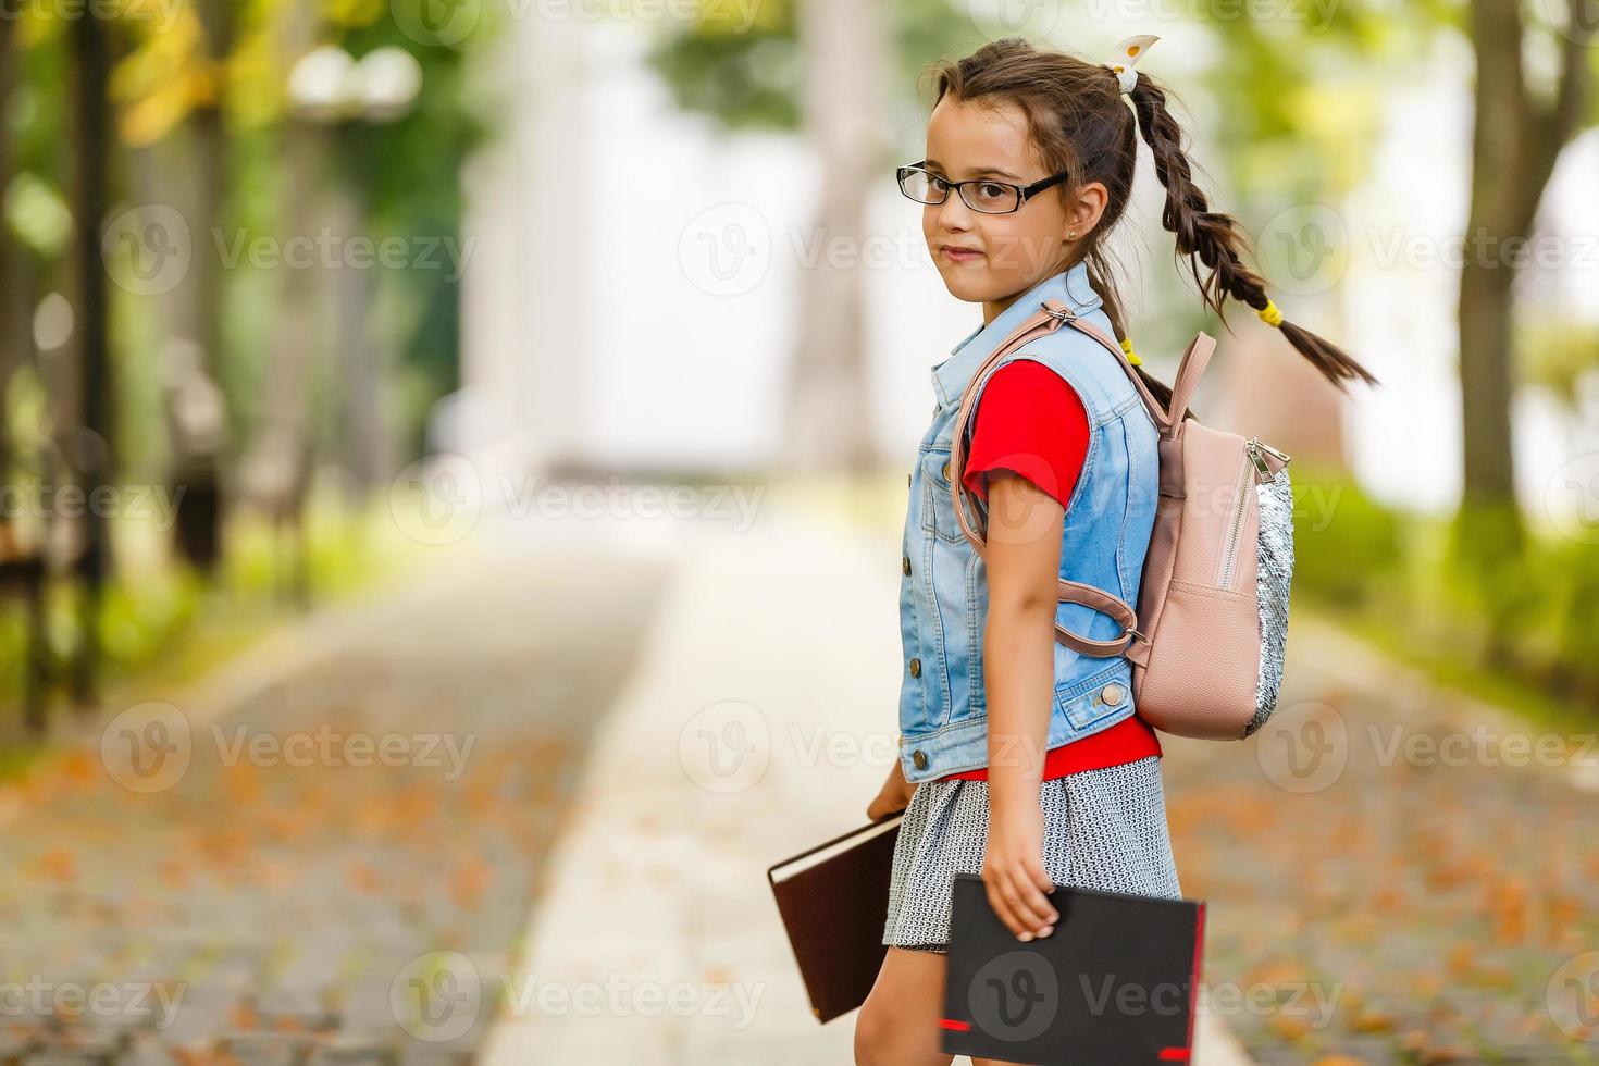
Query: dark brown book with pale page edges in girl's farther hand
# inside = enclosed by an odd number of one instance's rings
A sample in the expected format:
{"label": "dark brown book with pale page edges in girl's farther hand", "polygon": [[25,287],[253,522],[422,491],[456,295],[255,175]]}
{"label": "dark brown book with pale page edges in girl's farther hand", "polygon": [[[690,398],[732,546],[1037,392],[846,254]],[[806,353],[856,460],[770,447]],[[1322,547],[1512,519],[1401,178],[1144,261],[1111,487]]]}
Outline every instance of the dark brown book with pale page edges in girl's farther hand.
{"label": "dark brown book with pale page edges in girl's farther hand", "polygon": [[777,913],[823,1024],[867,1002],[889,917],[889,874],[903,812],[851,829],[766,871]]}

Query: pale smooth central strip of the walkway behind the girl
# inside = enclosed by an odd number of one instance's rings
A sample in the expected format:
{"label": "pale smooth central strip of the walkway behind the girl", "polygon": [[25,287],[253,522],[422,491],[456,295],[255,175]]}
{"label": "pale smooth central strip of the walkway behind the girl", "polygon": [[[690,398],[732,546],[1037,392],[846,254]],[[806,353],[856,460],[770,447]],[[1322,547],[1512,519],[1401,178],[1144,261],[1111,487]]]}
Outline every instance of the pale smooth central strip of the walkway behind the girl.
{"label": "pale smooth central strip of the walkway behind the girl", "polygon": [[[488,1066],[854,1061],[854,1013],[811,1015],[764,871],[862,825],[894,759],[897,535],[768,499],[681,551]],[[1209,1020],[1198,1044],[1198,1066],[1242,1061]]]}

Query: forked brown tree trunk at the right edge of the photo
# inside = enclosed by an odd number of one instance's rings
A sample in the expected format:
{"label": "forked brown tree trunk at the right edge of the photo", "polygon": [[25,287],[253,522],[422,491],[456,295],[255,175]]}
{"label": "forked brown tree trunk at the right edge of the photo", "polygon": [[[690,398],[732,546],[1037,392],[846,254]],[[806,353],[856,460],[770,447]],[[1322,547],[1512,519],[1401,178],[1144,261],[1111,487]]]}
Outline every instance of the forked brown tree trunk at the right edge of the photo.
{"label": "forked brown tree trunk at the right edge of the photo", "polygon": [[1537,102],[1522,70],[1521,6],[1473,0],[1476,131],[1466,257],[1460,273],[1460,396],[1465,432],[1465,503],[1514,510],[1511,447],[1516,265],[1506,240],[1529,238],[1538,201],[1561,149],[1588,112],[1591,82],[1585,27],[1573,0],[1561,37],[1562,69],[1554,101]]}

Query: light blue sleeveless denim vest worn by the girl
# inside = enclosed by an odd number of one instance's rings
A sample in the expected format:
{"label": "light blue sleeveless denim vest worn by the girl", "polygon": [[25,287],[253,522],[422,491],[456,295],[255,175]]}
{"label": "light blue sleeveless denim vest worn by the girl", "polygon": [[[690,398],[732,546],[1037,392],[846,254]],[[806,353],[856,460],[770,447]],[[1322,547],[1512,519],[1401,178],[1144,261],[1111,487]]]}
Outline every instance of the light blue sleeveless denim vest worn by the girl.
{"label": "light blue sleeveless denim vest worn by the girl", "polygon": [[[910,783],[988,764],[983,690],[988,579],[982,556],[955,518],[950,440],[961,392],[977,366],[1049,299],[1067,304],[1105,336],[1115,336],[1100,296],[1089,284],[1087,267],[1078,264],[1035,284],[932,368],[937,404],[910,475],[900,567],[905,673],[899,756]],[[1118,358],[1070,324],[1027,342],[993,369],[1019,358],[1036,360],[1070,382],[1089,417],[1087,457],[1062,531],[1060,577],[1137,604],[1159,484],[1154,422]],[[991,371],[979,382],[979,396],[988,380]],[[1057,604],[1055,620],[1092,639],[1121,633],[1115,619],[1081,604]],[[1047,748],[1097,734],[1134,713],[1132,663],[1124,655],[1097,658],[1060,641],[1054,649]]]}

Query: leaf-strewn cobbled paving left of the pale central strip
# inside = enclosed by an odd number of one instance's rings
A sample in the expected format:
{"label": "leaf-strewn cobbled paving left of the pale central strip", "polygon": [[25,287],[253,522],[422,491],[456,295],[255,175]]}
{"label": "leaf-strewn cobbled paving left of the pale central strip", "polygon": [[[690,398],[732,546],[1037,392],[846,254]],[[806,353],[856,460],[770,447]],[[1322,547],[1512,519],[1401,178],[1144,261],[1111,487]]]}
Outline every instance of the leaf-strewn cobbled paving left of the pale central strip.
{"label": "leaf-strewn cobbled paving left of the pale central strip", "polygon": [[0,1063],[469,1061],[662,561],[465,545],[0,802]]}

